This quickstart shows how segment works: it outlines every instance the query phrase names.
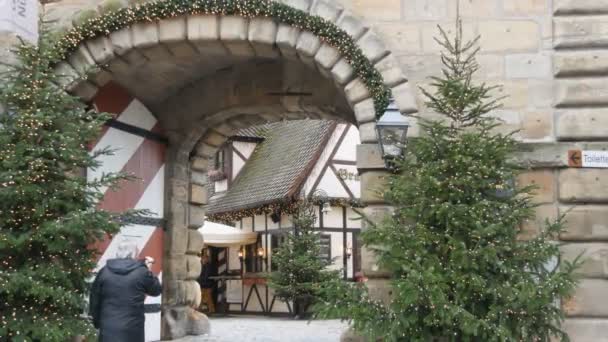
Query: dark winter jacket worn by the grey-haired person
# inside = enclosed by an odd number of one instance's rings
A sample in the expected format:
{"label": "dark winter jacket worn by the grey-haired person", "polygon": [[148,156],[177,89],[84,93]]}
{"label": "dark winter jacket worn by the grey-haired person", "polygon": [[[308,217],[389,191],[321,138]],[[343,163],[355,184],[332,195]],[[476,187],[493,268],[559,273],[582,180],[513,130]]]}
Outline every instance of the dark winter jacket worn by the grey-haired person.
{"label": "dark winter jacket worn by the grey-haired person", "polygon": [[108,260],[91,288],[89,313],[100,342],[143,342],[144,300],[158,296],[161,285],[143,261]]}

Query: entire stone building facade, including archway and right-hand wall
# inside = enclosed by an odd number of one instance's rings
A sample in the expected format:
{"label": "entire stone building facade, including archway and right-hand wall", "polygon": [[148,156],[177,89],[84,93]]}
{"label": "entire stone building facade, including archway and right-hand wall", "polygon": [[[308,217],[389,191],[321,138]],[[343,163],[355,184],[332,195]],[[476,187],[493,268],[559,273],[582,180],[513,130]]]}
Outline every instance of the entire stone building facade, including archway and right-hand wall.
{"label": "entire stone building facade, including archway and right-hand wall", "polygon": [[[460,13],[465,36],[481,35],[479,79],[503,85],[497,95],[508,95],[495,115],[505,129],[521,129],[526,152],[520,158],[531,168],[521,181],[539,186],[538,219],[527,232],[534,234],[546,217],[566,214],[565,257],[583,251],[588,257],[576,295],[563,304],[566,328],[574,341],[607,340],[608,170],[568,168],[567,151],[608,148],[608,1],[282,2],[346,30],[381,72],[404,114],[432,115],[416,89],[439,72],[437,25],[453,30]],[[62,0],[43,7],[57,27],[69,27],[127,5],[126,0]],[[3,46],[14,41],[0,36]],[[197,301],[192,279],[199,271],[194,251],[200,241],[188,228],[198,226],[205,205],[190,198],[206,196],[205,187],[197,185],[205,182],[206,156],[234,129],[304,117],[357,124],[362,200],[369,212],[386,209],[373,190],[386,172],[370,94],[344,57],[310,32],[269,19],[166,19],[89,41],[58,72],[71,75],[95,65],[102,66],[96,75],[68,84],[71,91],[88,101],[101,85],[117,82],[158,117],[169,136],[163,304],[176,309],[165,313],[173,322],[163,327],[166,337],[188,332],[187,323],[175,322],[187,322],[180,308]],[[315,91],[308,97],[267,96],[277,89]],[[363,269],[380,277],[370,285],[382,293],[385,281],[371,256],[364,257]]]}

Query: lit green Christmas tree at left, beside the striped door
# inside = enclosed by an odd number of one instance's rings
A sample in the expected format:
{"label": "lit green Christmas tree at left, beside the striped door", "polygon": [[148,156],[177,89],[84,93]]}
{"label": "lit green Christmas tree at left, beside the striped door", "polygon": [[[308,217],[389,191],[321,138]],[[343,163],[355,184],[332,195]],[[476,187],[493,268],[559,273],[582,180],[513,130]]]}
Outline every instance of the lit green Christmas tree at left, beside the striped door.
{"label": "lit green Christmas tree at left, beside the striped door", "polygon": [[111,153],[87,152],[109,116],[57,86],[48,37],[20,45],[18,65],[0,78],[0,340],[93,334],[81,318],[95,266],[90,246],[119,229],[115,215],[96,206],[99,189],[125,177],[87,181],[83,173]]}

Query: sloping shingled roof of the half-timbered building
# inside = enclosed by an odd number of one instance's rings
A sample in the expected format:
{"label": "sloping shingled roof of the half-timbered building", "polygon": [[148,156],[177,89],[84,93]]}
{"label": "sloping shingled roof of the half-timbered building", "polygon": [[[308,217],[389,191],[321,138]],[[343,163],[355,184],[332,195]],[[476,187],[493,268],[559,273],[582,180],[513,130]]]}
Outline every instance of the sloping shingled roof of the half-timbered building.
{"label": "sloping shingled roof of the half-timbered building", "polygon": [[335,123],[296,120],[265,126],[264,141],[258,144],[226,194],[211,200],[209,215],[296,197]]}

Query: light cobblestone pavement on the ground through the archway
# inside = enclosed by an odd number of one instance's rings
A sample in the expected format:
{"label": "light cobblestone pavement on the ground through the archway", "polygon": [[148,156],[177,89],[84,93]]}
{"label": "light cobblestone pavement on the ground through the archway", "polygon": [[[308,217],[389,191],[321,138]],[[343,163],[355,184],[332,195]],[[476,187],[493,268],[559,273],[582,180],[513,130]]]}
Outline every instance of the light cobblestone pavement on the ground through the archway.
{"label": "light cobblestone pavement on the ground through the archway", "polygon": [[208,336],[179,342],[337,342],[347,328],[337,320],[298,321],[269,317],[212,317]]}

